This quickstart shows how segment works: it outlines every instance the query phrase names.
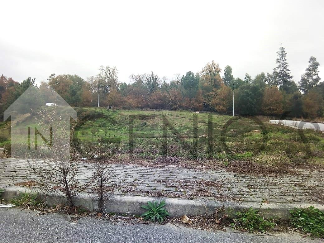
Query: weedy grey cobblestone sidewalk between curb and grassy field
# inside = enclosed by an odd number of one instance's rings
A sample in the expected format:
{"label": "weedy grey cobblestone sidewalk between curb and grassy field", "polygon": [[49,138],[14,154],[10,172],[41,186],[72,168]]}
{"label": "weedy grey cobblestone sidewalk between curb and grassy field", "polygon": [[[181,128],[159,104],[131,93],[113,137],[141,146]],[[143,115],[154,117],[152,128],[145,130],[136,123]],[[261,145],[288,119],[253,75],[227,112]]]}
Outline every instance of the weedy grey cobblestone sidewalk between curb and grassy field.
{"label": "weedy grey cobblestone sidewalk between curb and grassy field", "polygon": [[[78,179],[86,182],[94,169],[80,163]],[[323,172],[300,170],[299,175],[247,175],[219,170],[192,170],[172,165],[145,167],[113,164],[110,186],[115,194],[245,201],[319,203],[324,205]],[[0,159],[0,187],[37,180],[25,159]]]}

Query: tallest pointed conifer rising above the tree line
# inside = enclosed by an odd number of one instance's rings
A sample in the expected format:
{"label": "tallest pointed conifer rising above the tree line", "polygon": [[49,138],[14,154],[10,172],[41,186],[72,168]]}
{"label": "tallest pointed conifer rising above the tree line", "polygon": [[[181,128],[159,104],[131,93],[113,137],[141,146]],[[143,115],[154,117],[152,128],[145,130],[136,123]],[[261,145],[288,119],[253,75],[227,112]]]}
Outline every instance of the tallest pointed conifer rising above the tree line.
{"label": "tallest pointed conifer rising above the tree line", "polygon": [[[274,68],[274,70],[278,72],[277,84],[281,89],[287,92],[286,88],[290,86],[293,76],[291,75],[290,69],[288,68],[289,65],[286,59],[287,52],[285,51],[283,46],[280,47],[277,55],[278,58],[276,59],[276,64],[278,64],[278,66]],[[286,83],[289,83],[289,85],[287,85]]]}

